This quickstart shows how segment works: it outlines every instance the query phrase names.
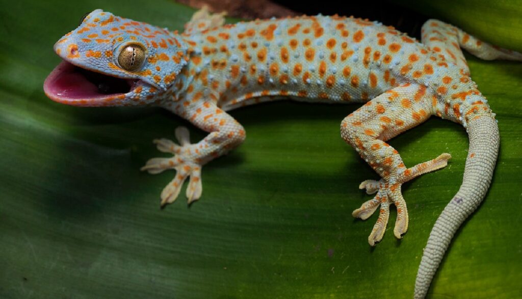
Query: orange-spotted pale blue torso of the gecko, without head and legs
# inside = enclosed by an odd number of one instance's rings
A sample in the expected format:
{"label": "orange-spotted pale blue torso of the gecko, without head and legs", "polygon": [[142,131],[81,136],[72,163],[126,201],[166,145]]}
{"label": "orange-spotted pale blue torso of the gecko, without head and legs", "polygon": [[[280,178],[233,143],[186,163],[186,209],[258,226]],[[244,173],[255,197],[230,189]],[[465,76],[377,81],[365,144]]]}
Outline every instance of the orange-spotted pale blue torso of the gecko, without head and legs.
{"label": "orange-spotted pale blue torso of the gecko, without head and legs", "polygon": [[186,71],[194,80],[178,100],[209,88],[209,99],[226,111],[288,97],[366,102],[399,85],[416,84],[423,99],[426,94],[436,98],[430,114],[458,121],[453,109],[445,109],[448,97],[453,107],[459,94],[479,94],[444,55],[392,27],[361,19],[257,20],[184,38],[192,45]]}

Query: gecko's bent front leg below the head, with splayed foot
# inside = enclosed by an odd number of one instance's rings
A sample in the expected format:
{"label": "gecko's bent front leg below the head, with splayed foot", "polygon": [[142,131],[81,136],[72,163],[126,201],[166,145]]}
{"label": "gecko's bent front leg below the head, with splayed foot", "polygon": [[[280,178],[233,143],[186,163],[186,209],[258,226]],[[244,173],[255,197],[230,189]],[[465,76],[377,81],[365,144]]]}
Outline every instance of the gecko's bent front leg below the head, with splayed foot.
{"label": "gecko's bent front leg below the head, with splayed foot", "polygon": [[[168,139],[158,139],[153,142],[159,151],[174,154],[171,158],[152,158],[141,170],[149,174],[159,174],[167,169],[175,169],[176,176],[161,192],[162,208],[176,200],[183,182],[190,177],[186,190],[188,204],[201,197],[201,168],[213,158],[226,154],[232,148],[241,144],[245,139],[245,130],[229,114],[212,102],[180,104],[183,113],[201,130],[209,134],[200,142],[191,144],[188,130],[184,127],[176,129],[176,138],[179,144]],[[188,103],[188,104],[187,104]],[[179,108],[179,107],[178,107]]]}

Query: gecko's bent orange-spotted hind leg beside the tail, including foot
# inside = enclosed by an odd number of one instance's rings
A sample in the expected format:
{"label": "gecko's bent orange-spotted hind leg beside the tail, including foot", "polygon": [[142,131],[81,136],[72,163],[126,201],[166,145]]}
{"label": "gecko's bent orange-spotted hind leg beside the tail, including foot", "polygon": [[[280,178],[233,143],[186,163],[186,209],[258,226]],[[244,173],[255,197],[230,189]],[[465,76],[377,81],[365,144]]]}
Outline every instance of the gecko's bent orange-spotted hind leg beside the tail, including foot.
{"label": "gecko's bent orange-spotted hind leg beside the tail, including foot", "polygon": [[432,95],[424,86],[406,84],[395,87],[367,102],[341,123],[341,136],[381,176],[381,180],[366,180],[359,188],[375,198],[353,211],[354,217],[369,218],[378,208],[379,216],[368,238],[371,246],[380,241],[386,229],[389,205],[397,207],[394,235],[401,238],[408,230],[408,210],[402,197],[401,185],[426,172],[447,165],[449,154],[406,168],[399,153],[385,141],[427,120],[433,113]]}

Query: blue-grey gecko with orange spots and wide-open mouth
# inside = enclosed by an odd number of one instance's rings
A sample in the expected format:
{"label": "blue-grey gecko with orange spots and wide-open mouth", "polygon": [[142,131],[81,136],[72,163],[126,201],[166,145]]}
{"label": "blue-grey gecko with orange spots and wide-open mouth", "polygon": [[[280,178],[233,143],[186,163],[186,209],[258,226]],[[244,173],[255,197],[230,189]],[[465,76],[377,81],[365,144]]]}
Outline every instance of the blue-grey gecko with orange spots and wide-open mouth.
{"label": "blue-grey gecko with orange spots and wide-open mouth", "polygon": [[471,80],[461,49],[484,60],[522,61],[522,54],[435,19],[425,22],[421,35],[419,42],[391,26],[338,15],[224,25],[224,14],[206,8],[178,32],[96,9],[55,43],[63,61],[45,79],[44,92],[73,106],[162,107],[208,132],[191,143],[179,127],[177,143],[153,141],[173,156],[152,158],[141,170],[176,171],[161,206],[176,200],[187,178],[188,203],[198,200],[202,167],[245,140],[245,129],[228,111],[278,99],[364,103],[341,121],[340,132],[381,177],[360,184],[376,195],[352,213],[366,220],[379,210],[371,246],[382,240],[392,204],[394,235],[407,232],[402,184],[444,168],[451,157],[443,153],[408,168],[386,141],[431,116],[464,126],[464,179],[424,248],[414,289],[414,297],[423,298],[453,235],[484,198],[499,152],[495,113]]}

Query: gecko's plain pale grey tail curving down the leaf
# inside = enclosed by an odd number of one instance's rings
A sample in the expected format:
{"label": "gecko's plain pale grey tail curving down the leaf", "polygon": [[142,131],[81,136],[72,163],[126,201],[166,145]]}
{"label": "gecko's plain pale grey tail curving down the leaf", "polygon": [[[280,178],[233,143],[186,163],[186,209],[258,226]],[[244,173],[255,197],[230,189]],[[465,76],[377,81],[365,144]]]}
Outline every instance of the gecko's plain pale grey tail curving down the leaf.
{"label": "gecko's plain pale grey tail curving down the leaf", "polygon": [[464,179],[455,197],[438,217],[424,248],[417,273],[414,298],[424,298],[453,235],[478,208],[491,183],[499,152],[499,127],[489,114],[469,121],[469,152]]}

